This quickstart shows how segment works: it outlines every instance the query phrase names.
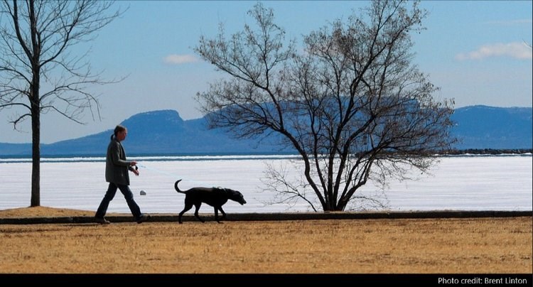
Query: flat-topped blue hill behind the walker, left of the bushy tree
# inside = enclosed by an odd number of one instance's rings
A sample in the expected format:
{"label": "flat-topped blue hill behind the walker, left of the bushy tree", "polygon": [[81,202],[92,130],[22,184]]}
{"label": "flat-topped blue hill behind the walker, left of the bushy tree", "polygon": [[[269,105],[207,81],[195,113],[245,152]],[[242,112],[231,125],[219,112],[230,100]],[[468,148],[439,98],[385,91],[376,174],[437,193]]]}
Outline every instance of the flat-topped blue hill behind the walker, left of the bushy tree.
{"label": "flat-topped blue hill behind the walker, left of the bushy tree", "polygon": [[[257,141],[232,139],[221,129],[207,128],[204,118],[183,121],[174,110],[135,114],[121,123],[128,128],[128,154],[276,153],[279,148]],[[114,128],[114,127],[113,127]],[[105,156],[113,130],[41,145],[42,156]],[[31,144],[1,144],[0,156],[31,155]]]}

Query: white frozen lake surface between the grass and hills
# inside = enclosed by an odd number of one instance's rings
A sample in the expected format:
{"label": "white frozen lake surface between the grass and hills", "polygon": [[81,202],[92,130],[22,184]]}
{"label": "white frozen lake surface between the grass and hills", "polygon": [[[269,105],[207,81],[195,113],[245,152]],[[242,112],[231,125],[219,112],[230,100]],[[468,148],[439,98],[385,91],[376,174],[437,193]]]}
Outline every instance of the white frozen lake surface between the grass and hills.
{"label": "white frozen lake surface between the grass and hills", "polygon": [[[176,193],[195,186],[220,186],[239,190],[246,205],[228,201],[226,212],[306,212],[300,202],[265,205],[274,197],[264,192],[266,163],[284,165],[286,156],[175,156],[129,157],[139,161],[141,175],[130,173],[130,188],[146,213],[178,213],[185,195]],[[43,158],[41,162],[41,205],[46,207],[96,210],[107,190],[104,158]],[[392,181],[386,190],[372,183],[361,192],[387,205],[386,210],[532,210],[533,164],[531,155],[449,156],[416,181]],[[296,171],[289,170],[292,176]],[[0,210],[28,207],[31,196],[31,161],[0,158]],[[146,195],[139,195],[145,190]],[[129,209],[118,191],[108,212]],[[190,210],[189,212],[193,212]],[[200,212],[212,212],[202,205]]]}

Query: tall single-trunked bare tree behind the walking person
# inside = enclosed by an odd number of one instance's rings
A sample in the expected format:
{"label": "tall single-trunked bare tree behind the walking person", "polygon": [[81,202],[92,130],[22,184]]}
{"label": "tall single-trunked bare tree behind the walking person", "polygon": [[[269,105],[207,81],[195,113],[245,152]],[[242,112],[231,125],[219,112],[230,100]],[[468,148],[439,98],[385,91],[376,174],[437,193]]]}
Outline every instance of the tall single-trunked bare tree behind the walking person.
{"label": "tall single-trunked bare tree behind the walking person", "polygon": [[85,55],[70,48],[92,40],[120,12],[107,15],[112,1],[27,0],[0,2],[0,111],[14,109],[14,129],[31,118],[31,206],[41,205],[41,114],[58,112],[81,123],[90,109],[99,117],[97,97],[90,84],[104,84],[93,73]]}

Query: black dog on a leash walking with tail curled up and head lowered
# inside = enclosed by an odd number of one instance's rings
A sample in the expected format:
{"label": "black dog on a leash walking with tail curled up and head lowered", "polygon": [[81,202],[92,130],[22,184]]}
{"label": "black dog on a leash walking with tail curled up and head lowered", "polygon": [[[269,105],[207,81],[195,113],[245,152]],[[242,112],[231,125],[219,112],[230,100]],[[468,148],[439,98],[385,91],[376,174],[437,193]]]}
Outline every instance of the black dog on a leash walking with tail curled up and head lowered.
{"label": "black dog on a leash walking with tail curled up and head lowered", "polygon": [[180,181],[181,180],[178,180],[174,183],[174,188],[176,188],[178,193],[185,193],[185,208],[183,208],[178,217],[180,223],[182,223],[181,217],[183,216],[183,213],[193,208],[193,205],[196,207],[194,212],[195,217],[201,222],[205,222],[205,220],[198,216],[198,210],[200,210],[202,202],[215,207],[215,220],[217,220],[218,223],[221,223],[220,220],[218,220],[218,210],[222,212],[222,219],[226,218],[226,212],[222,210],[222,205],[224,205],[227,200],[235,200],[241,205],[246,203],[242,193],[239,193],[237,190],[230,190],[229,188],[190,188],[189,190],[180,190],[178,188],[178,183],[180,183]]}

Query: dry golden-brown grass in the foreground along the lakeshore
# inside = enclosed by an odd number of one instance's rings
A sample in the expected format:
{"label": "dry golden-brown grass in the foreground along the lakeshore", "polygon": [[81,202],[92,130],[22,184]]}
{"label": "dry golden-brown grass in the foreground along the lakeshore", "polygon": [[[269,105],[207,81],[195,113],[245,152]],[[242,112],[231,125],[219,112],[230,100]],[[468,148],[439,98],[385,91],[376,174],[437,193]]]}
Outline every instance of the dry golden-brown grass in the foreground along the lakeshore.
{"label": "dry golden-brown grass in the foreground along the lakeshore", "polygon": [[[93,215],[0,210],[0,218]],[[4,224],[0,272],[531,274],[532,225],[532,217]]]}

